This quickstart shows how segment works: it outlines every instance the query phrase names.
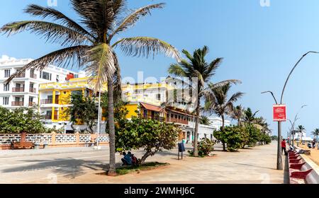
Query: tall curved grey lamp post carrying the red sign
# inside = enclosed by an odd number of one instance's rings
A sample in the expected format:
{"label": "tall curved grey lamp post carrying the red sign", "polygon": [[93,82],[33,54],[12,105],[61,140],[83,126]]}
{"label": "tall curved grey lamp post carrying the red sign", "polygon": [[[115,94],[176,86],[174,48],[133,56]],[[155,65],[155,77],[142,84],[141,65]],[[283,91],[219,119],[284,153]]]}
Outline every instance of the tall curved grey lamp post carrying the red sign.
{"label": "tall curved grey lamp post carrying the red sign", "polygon": [[[319,54],[319,52],[314,52],[314,51],[309,51],[306,54],[303,54],[303,56],[301,57],[301,59],[298,60],[298,62],[295,64],[295,66],[293,66],[293,69],[291,69],[288,78],[286,79],[286,82],[284,84],[284,88],[282,89],[281,92],[281,99],[280,99],[280,104],[282,104],[283,102],[283,98],[284,98],[284,91],[286,90],[286,86],[288,84],[289,78],[291,76],[291,74],[293,73],[293,71],[296,69],[296,67],[298,66],[298,64],[301,62],[301,60],[306,57],[308,54],[313,53],[313,54]],[[271,93],[272,97],[275,100],[276,105],[278,105],[276,98],[274,97],[274,93],[272,93],[272,91],[265,91],[263,93]],[[282,165],[282,158],[281,158],[281,122],[278,122],[278,148],[277,148],[277,170],[283,170],[283,165]]]}

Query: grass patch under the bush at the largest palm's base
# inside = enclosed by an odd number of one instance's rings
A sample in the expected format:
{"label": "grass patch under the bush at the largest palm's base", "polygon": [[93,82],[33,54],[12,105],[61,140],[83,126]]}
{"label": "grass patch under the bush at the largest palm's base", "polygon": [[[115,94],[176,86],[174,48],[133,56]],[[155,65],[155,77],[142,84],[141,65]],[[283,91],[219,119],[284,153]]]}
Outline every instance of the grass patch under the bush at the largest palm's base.
{"label": "grass patch under the bush at the largest palm's base", "polygon": [[116,169],[118,175],[126,175],[128,173],[140,173],[140,170],[152,170],[161,166],[169,165],[169,163],[150,162],[139,166],[123,166]]}

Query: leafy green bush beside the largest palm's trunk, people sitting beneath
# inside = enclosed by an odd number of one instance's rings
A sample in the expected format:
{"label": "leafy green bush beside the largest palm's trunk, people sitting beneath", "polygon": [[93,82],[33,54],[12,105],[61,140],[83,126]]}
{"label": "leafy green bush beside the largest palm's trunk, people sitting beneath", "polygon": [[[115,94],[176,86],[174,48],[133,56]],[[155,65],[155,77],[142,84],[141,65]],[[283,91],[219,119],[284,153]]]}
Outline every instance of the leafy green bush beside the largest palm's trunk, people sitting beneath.
{"label": "leafy green bush beside the largest palm's trunk, people sitting beneath", "polygon": [[157,120],[145,120],[140,117],[118,121],[116,126],[116,151],[144,148],[146,153],[138,161],[139,164],[144,163],[149,156],[154,156],[158,151],[174,148],[181,130],[174,124]]}

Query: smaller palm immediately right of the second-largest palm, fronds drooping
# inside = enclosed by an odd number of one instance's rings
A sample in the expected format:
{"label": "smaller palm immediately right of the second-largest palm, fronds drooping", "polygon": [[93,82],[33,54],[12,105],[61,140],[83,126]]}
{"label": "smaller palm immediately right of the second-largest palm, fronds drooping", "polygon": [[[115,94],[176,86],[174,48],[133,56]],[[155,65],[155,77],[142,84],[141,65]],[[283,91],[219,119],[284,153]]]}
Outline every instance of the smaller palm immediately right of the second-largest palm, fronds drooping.
{"label": "smaller palm immediately right of the second-largest palm, fronds drooping", "polygon": [[[222,132],[225,129],[225,115],[231,115],[233,112],[234,103],[242,97],[244,93],[237,92],[233,94],[228,100],[228,91],[230,90],[230,83],[224,86],[214,86],[210,84],[209,91],[206,95],[206,112],[215,113],[222,119]],[[225,142],[223,142],[223,151],[226,151]]]}

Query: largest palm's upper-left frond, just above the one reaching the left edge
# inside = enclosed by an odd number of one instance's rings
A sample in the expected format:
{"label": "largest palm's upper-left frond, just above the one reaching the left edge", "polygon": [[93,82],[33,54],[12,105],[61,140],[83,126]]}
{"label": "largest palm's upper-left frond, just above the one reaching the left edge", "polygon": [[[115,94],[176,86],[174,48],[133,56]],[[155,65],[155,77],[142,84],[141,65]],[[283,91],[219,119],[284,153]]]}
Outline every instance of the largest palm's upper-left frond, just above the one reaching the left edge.
{"label": "largest palm's upper-left frond, just above the one reaching the left edge", "polygon": [[94,36],[91,35],[91,33],[89,33],[87,30],[85,30],[81,25],[79,25],[79,23],[76,23],[71,18],[65,16],[65,14],[57,11],[55,8],[45,8],[43,6],[31,4],[25,9],[25,12],[33,16],[40,16],[43,19],[49,17],[55,21],[61,21],[62,25],[65,25],[68,28],[72,28],[73,30],[78,31],[83,35],[86,35],[86,37],[88,37],[91,42],[93,42],[94,40]]}

